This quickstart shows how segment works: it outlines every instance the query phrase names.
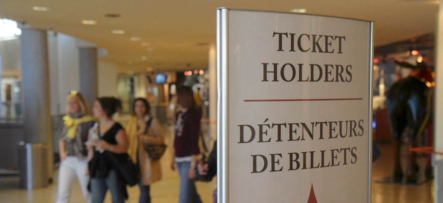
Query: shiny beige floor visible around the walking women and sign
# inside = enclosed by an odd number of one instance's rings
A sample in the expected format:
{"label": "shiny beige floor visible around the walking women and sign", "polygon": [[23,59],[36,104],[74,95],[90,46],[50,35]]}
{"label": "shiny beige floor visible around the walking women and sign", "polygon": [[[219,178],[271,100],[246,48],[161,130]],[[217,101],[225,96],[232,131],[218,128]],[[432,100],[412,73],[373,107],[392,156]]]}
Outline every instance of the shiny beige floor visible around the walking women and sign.
{"label": "shiny beige floor visible around the walking women and sign", "polygon": [[[171,134],[171,133],[167,133]],[[171,146],[170,136],[167,138]],[[380,145],[382,155],[373,164],[373,193],[372,202],[404,202],[404,203],[431,203],[433,202],[432,191],[433,181],[428,181],[422,185],[400,185],[384,184],[377,181],[392,174],[393,156],[392,145]],[[174,203],[178,199],[179,178],[176,172],[169,169],[171,154],[169,151],[162,158],[162,181],[155,183],[151,189],[152,202],[154,203]],[[211,183],[197,183],[203,202],[209,203],[215,188],[215,179]],[[139,188],[129,188],[129,199],[127,202],[137,202]],[[18,189],[18,178],[14,176],[0,177],[0,202],[54,202],[57,198],[57,176],[56,183],[43,189],[22,190]],[[71,202],[84,202],[78,185],[74,186]],[[105,202],[111,202],[109,194]],[[324,203],[324,202],[319,202]],[[330,203],[330,202],[327,202]]]}

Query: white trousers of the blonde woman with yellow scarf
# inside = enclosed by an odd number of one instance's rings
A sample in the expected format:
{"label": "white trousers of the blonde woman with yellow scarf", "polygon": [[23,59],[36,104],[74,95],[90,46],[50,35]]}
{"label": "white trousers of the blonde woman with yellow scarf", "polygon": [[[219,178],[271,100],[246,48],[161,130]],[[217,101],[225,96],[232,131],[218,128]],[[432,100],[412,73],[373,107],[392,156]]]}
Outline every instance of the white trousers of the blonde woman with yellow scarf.
{"label": "white trousers of the blonde woman with yellow scarf", "polygon": [[75,179],[78,180],[85,201],[91,203],[91,193],[88,191],[89,176],[86,175],[87,168],[88,160],[86,158],[80,159],[75,156],[68,156],[62,161],[59,167],[59,196],[57,203],[69,202]]}

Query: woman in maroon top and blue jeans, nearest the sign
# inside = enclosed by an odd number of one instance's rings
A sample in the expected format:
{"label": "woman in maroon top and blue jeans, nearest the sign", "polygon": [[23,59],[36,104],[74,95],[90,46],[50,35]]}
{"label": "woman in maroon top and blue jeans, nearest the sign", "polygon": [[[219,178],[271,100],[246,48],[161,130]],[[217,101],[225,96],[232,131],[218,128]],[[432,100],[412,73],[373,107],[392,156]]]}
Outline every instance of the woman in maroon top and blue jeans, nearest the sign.
{"label": "woman in maroon top and blue jeans, nearest the sign", "polygon": [[177,164],[180,176],[179,203],[201,203],[193,179],[197,156],[200,154],[199,129],[200,114],[195,109],[195,100],[191,88],[183,86],[177,90],[179,112],[176,114],[174,157],[171,169]]}

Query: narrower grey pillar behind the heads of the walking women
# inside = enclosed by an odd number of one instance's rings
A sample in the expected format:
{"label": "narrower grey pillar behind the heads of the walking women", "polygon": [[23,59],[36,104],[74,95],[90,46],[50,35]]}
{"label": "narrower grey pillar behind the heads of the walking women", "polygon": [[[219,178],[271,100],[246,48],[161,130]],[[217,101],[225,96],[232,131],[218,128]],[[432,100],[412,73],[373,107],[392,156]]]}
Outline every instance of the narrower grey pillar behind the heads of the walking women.
{"label": "narrower grey pillar behind the heads of the walking women", "polygon": [[85,97],[89,108],[97,98],[97,48],[79,48],[80,93]]}

